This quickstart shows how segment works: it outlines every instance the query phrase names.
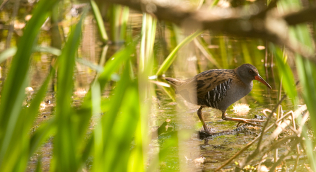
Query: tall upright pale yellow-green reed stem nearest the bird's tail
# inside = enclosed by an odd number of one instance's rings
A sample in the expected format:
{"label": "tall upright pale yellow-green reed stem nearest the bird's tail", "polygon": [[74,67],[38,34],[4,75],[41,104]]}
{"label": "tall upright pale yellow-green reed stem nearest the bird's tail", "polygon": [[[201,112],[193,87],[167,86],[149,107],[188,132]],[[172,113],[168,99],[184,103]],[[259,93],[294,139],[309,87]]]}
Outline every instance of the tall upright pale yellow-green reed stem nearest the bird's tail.
{"label": "tall upright pale yellow-green reed stem nearest the bird's tail", "polygon": [[[128,171],[145,171],[144,164],[147,164],[146,149],[148,143],[148,114],[151,109],[153,93],[153,84],[148,81],[148,76],[153,74],[153,45],[156,38],[157,20],[148,14],[143,16],[142,38],[139,53],[139,72],[138,72],[138,89],[139,89],[139,104],[141,104],[140,115],[141,119],[136,122],[136,130],[134,133],[134,149],[131,149]],[[147,103],[143,103],[147,102]]]}

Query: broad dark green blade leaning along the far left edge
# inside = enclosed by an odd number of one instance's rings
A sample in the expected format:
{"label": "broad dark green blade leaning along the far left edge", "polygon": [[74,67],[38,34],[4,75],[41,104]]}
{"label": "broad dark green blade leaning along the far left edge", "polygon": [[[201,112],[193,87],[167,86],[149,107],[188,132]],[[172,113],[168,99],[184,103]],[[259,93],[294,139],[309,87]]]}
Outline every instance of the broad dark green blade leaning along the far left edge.
{"label": "broad dark green blade leaning along the far left edge", "polygon": [[[37,34],[42,24],[46,21],[49,12],[57,0],[40,1],[33,11],[32,18],[25,26],[21,40],[18,42],[16,55],[12,59],[8,78],[1,91],[0,104],[0,171],[11,171],[14,161],[8,163],[10,157],[17,156],[18,152],[8,152],[8,147],[18,142],[13,137],[13,132],[22,130],[23,126],[17,125],[21,115],[21,106],[25,98],[25,87],[28,84],[28,70],[30,55],[33,52]],[[19,168],[19,167],[18,167]],[[21,169],[21,168],[19,168]]]}

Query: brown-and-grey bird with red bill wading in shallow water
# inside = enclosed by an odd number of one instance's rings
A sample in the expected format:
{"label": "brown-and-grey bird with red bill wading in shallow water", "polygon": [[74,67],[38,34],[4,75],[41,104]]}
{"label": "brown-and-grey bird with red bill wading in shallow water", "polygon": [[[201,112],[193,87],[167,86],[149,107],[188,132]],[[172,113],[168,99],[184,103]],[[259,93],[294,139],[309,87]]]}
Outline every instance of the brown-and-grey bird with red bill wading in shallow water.
{"label": "brown-and-grey bird with red bill wading in shallow water", "polygon": [[255,125],[252,122],[264,121],[226,116],[226,110],[230,105],[252,91],[252,80],[260,81],[271,89],[271,86],[262,79],[257,68],[252,64],[242,64],[235,69],[210,69],[186,80],[168,77],[165,80],[186,101],[200,106],[199,110],[197,110],[197,115],[207,134],[214,134],[209,131],[202,117],[201,110],[207,107],[221,110],[223,120],[243,122],[251,125]]}

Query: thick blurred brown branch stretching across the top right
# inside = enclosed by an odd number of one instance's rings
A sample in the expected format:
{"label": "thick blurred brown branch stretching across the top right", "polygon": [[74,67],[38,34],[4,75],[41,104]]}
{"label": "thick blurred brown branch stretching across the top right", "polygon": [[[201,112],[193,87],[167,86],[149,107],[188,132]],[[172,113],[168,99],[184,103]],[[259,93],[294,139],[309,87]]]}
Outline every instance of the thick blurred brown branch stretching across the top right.
{"label": "thick blurred brown branch stretching across the top right", "polygon": [[111,4],[129,6],[136,11],[150,13],[161,21],[170,21],[188,30],[212,30],[213,33],[226,33],[247,38],[261,38],[279,45],[316,63],[315,54],[288,35],[289,25],[298,25],[316,20],[316,7],[303,8],[291,13],[279,13],[276,0],[267,7],[257,3],[247,8],[199,8],[192,9],[175,1],[154,0],[105,0]]}

